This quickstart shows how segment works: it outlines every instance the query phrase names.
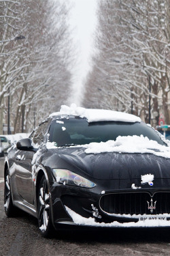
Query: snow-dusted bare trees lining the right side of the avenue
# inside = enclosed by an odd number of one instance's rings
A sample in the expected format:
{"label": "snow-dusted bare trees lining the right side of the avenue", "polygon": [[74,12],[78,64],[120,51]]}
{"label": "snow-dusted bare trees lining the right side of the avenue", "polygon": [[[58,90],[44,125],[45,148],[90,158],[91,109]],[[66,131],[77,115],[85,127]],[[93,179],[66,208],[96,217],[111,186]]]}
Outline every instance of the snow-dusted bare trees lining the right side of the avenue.
{"label": "snow-dusted bare trees lining the right side of the avenue", "polygon": [[[169,0],[99,0],[84,106],[169,120]],[[150,116],[151,115],[151,116]]]}

